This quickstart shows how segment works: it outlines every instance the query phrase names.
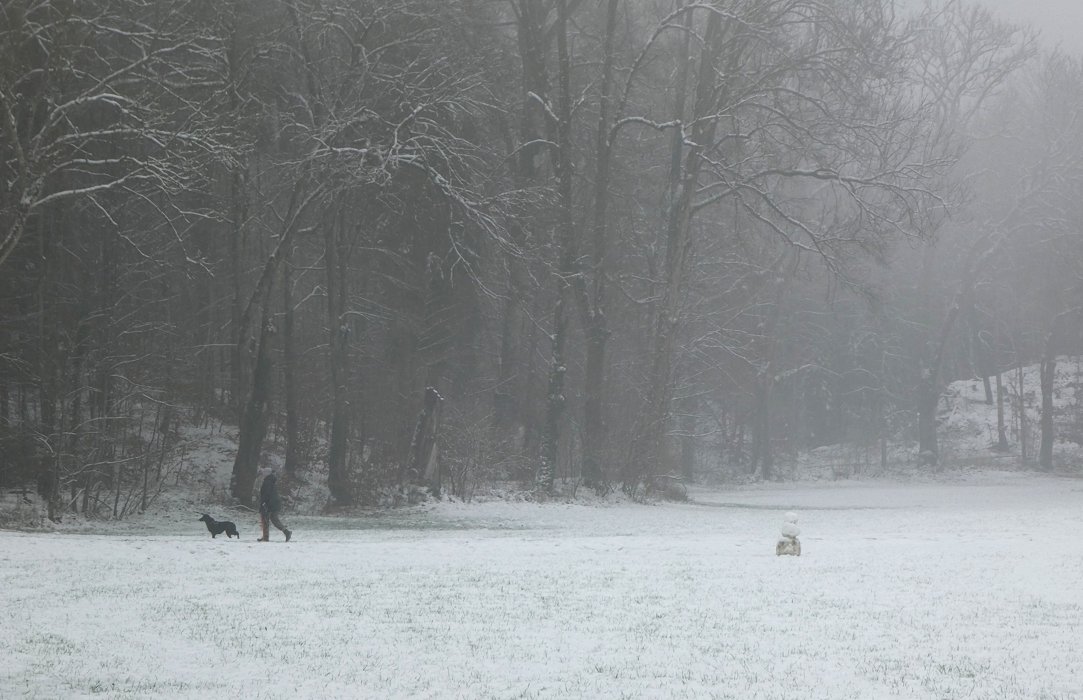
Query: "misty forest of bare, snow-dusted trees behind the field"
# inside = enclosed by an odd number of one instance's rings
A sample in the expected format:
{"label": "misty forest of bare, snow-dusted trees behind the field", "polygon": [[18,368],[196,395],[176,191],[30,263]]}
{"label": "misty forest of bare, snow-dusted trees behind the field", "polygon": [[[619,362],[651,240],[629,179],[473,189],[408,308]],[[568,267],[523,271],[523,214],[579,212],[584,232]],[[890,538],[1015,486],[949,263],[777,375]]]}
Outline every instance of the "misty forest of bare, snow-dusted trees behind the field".
{"label": "misty forest of bare, snow-dusted trees behind the field", "polygon": [[779,477],[1083,309],[1083,68],[956,0],[0,1],[0,485]]}

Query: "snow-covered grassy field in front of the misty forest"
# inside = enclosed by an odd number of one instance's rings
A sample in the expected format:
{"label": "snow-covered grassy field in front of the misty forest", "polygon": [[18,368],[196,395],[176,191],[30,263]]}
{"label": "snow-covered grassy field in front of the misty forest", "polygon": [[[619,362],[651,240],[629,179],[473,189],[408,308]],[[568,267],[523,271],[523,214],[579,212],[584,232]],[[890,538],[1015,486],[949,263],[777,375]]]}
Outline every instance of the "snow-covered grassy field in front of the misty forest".
{"label": "snow-covered grassy field in front of the misty forest", "polygon": [[1083,698],[1083,480],[693,496],[0,532],[0,697]]}

